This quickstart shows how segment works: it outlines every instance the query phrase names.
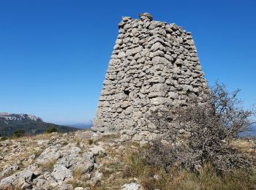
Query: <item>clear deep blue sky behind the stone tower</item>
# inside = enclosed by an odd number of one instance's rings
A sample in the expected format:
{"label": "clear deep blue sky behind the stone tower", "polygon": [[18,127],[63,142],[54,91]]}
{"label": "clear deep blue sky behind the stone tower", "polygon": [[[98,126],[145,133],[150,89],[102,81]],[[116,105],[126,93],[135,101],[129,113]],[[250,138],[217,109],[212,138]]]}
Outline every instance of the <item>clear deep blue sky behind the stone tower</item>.
{"label": "clear deep blue sky behind the stone tower", "polygon": [[122,16],[191,31],[211,86],[256,104],[256,1],[0,1],[0,112],[53,123],[94,118]]}

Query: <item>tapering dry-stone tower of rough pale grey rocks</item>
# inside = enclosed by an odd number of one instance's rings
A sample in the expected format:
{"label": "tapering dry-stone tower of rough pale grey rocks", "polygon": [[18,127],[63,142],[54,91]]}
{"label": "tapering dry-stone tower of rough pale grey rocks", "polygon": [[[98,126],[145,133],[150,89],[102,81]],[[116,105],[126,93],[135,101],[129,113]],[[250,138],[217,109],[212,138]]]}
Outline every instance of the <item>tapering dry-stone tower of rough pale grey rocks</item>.
{"label": "tapering dry-stone tower of rough pale grey rocks", "polygon": [[191,33],[148,13],[118,28],[93,130],[145,129],[152,111],[184,106],[208,88]]}

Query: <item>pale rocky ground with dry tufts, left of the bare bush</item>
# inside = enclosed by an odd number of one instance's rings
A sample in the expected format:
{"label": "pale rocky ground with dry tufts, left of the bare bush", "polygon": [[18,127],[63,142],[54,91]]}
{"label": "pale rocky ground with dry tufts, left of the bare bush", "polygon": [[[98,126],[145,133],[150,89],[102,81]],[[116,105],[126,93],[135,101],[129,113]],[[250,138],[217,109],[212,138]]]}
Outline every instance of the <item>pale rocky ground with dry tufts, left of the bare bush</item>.
{"label": "pale rocky ground with dry tufts, left of the bare bush", "polygon": [[121,173],[129,152],[148,143],[146,134],[84,131],[0,141],[0,189],[142,189]]}

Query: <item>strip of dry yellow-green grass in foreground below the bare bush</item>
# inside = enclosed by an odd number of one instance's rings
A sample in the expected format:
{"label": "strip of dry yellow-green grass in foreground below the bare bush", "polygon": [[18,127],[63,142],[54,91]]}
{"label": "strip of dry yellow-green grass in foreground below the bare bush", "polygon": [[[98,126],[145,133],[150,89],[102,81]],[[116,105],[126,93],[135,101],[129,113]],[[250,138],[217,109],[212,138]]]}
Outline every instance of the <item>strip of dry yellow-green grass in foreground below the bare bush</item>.
{"label": "strip of dry yellow-green grass in foreground below the bare bush", "polygon": [[138,152],[129,156],[123,178],[138,178],[145,189],[256,189],[256,172],[236,170],[219,175],[211,164],[200,172],[147,165]]}

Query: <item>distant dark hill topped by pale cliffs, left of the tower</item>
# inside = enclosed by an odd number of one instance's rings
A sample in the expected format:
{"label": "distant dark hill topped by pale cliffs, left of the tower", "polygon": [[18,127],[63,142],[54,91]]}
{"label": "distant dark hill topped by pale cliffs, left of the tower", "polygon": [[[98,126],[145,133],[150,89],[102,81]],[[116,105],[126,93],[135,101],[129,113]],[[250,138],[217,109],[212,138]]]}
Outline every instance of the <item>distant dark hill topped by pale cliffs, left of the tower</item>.
{"label": "distant dark hill topped by pale cliffs, left of the tower", "polygon": [[60,132],[74,132],[79,129],[70,126],[60,126],[45,123],[42,118],[28,114],[0,113],[0,137],[10,136],[12,132],[20,129],[26,134],[41,134],[49,126],[55,126]]}

